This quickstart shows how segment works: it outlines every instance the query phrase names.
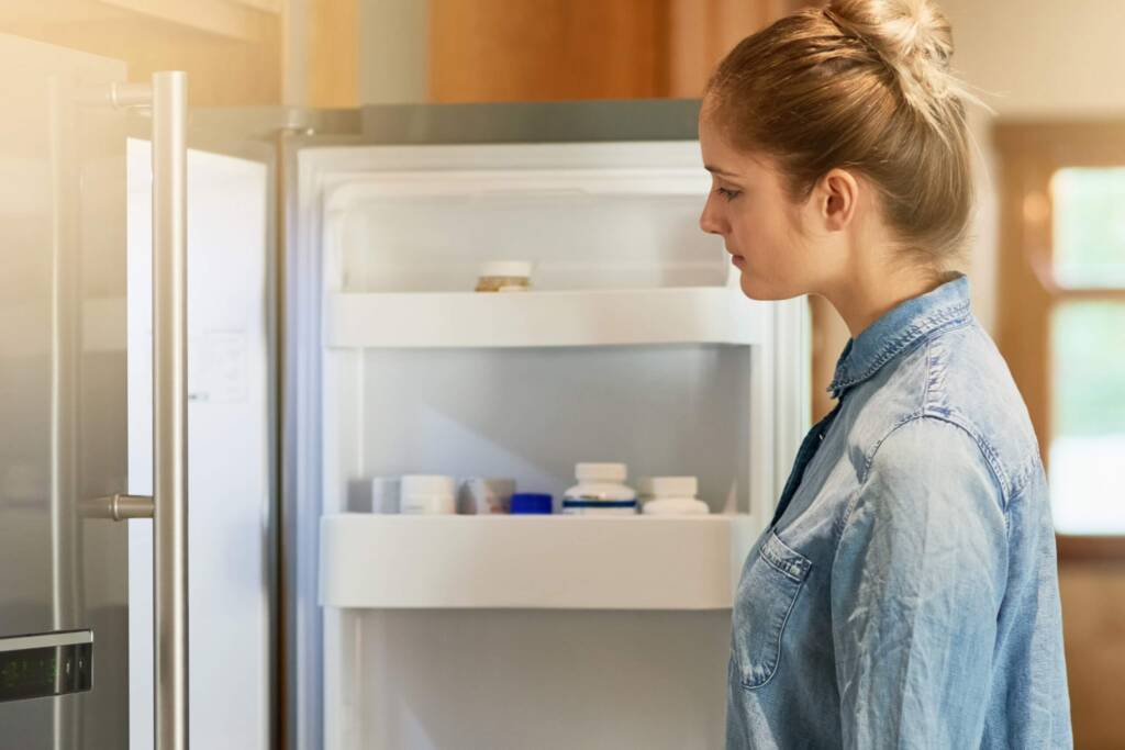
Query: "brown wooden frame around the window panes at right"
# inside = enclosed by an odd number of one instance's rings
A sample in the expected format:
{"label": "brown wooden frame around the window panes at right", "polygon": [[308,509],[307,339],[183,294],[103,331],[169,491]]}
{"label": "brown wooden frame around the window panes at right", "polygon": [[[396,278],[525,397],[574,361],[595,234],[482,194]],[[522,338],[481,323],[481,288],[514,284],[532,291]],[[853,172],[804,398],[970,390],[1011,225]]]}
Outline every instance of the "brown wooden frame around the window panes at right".
{"label": "brown wooden frame around the window panes at right", "polygon": [[[997,345],[1027,404],[1047,466],[1052,435],[1051,314],[1071,301],[1125,301],[1122,288],[1066,288],[1054,279],[1051,178],[1069,168],[1125,166],[1125,120],[1000,120]],[[1060,534],[1060,560],[1125,561],[1125,534]]]}

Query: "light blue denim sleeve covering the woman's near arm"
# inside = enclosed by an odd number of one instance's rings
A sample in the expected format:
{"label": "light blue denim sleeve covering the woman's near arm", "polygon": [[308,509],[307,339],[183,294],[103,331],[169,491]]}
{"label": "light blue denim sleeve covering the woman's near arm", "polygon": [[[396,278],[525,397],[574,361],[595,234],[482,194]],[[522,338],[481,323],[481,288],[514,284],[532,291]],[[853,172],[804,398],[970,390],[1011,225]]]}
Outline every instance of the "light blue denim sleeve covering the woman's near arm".
{"label": "light blue denim sleeve covering the woman's near arm", "polygon": [[892,432],[831,572],[844,747],[980,747],[1007,559],[976,442],[929,417]]}

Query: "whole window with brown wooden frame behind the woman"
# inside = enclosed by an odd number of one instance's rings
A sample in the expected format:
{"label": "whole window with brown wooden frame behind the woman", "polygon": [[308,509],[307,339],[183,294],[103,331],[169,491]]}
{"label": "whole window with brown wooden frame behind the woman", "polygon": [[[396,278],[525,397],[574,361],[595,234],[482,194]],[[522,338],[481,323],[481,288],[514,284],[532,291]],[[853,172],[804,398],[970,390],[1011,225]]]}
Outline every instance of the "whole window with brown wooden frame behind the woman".
{"label": "whole window with brown wooden frame behind the woman", "polygon": [[1000,125],[997,143],[998,343],[1040,437],[1060,550],[1122,558],[1125,127]]}

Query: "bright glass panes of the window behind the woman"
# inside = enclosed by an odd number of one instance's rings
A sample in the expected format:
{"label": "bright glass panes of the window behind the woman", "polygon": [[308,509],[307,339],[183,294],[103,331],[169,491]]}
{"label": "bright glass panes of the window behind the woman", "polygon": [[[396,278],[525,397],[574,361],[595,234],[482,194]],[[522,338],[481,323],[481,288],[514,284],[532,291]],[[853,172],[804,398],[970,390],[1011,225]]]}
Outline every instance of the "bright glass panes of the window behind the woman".
{"label": "bright glass panes of the window behind the woman", "polygon": [[[1125,169],[1051,179],[1050,480],[1055,527],[1125,534]],[[1081,290],[1077,300],[1069,291]]]}

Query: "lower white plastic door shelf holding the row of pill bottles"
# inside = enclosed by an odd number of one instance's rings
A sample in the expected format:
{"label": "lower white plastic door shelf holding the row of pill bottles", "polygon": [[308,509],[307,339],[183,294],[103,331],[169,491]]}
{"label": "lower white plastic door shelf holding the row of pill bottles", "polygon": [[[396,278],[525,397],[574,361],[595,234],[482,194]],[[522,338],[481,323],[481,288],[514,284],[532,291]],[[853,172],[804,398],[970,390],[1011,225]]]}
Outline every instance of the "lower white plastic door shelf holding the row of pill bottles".
{"label": "lower white plastic door shelf holding the row of pill bottles", "polygon": [[745,515],[328,515],[321,604],[726,609],[756,531]]}

